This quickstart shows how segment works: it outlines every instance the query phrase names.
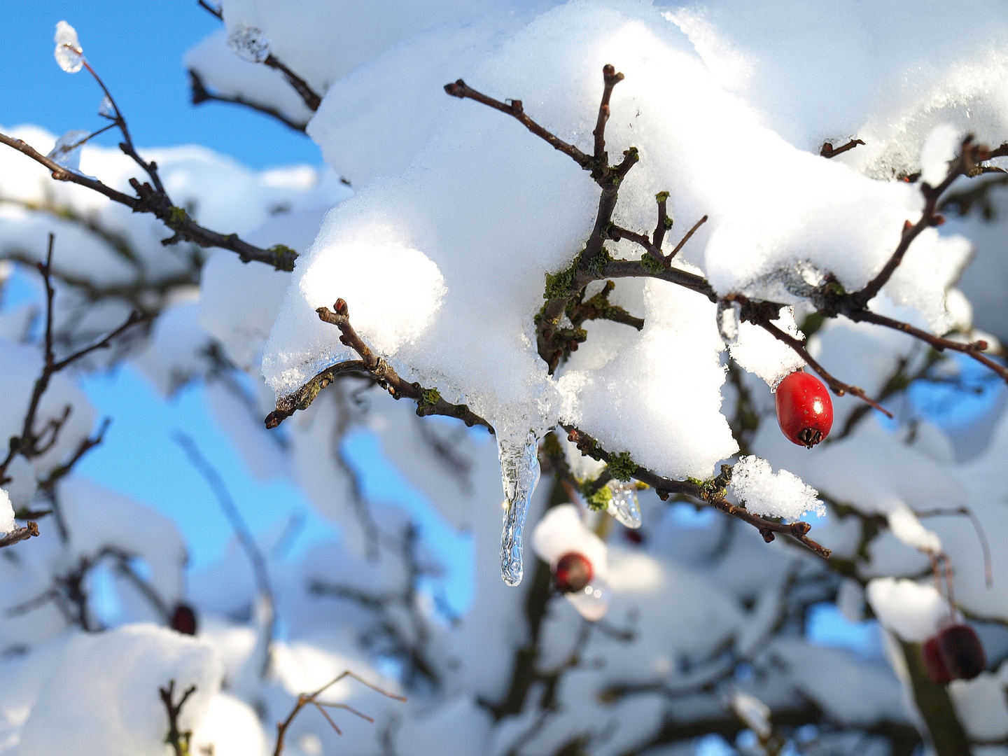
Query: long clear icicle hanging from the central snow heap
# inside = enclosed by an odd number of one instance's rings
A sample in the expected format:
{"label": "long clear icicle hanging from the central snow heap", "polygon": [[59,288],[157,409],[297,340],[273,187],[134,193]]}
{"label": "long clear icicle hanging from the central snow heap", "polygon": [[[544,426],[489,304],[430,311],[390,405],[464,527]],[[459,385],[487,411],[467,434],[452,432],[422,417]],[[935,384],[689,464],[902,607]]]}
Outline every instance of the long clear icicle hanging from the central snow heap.
{"label": "long clear icicle hanging from the central snow heap", "polygon": [[504,530],[501,533],[501,578],[509,586],[521,583],[522,529],[528,503],[539,482],[539,443],[529,431],[521,442],[497,437],[497,453],[501,460],[501,480],[507,506],[504,509]]}

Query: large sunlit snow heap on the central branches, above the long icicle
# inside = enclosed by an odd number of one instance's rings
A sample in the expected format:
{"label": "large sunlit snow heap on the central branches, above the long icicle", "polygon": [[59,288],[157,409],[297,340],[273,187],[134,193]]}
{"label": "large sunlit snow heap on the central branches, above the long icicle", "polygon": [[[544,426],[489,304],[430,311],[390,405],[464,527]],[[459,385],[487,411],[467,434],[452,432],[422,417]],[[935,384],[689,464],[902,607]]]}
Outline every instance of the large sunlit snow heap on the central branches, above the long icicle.
{"label": "large sunlit snow heap on the central branches, above the long icicle", "polygon": [[[417,47],[414,66],[422,68]],[[475,57],[458,58],[472,71],[472,86],[521,97],[527,113],[584,147],[598,108],[599,72],[616,64],[627,78],[613,95],[610,152],[634,145],[642,156],[624,182],[616,220],[630,228],[653,225],[652,197],[662,188],[671,192],[674,217],[709,215],[683,255],[722,293],[795,301],[827,272],[848,289],[862,286],[891,254],[903,222],[919,213],[916,187],[872,180],[767,129],[646,3],[572,3],[489,53],[471,52]],[[372,89],[381,89],[382,71],[374,68]],[[665,96],[654,97],[658,91]],[[329,133],[325,120],[317,117],[317,133]],[[740,165],[725,144],[759,149]],[[487,198],[493,198],[490,213]],[[718,412],[716,330],[707,343],[696,327],[700,319],[713,320],[704,311],[712,305],[649,282],[644,332],[626,333],[623,350],[598,370],[575,371],[558,384],[535,354],[532,318],[543,276],[564,268],[581,249],[596,204],[597,188],[583,171],[512,119],[450,101],[412,166],[401,177],[372,181],[331,213],[298,260],[266,348],[267,380],[288,393],[325,365],[351,357],[338,331],[314,313],[342,296],[359,333],[410,380],[467,401],[495,425],[541,431],[566,416],[659,472],[709,475],[734,451]],[[517,245],[515,229],[522,234]],[[614,245],[614,252],[639,254],[628,243]],[[929,231],[887,290],[944,330],[944,288],[967,254],[966,242]],[[786,367],[781,359],[754,369],[772,382]]]}

